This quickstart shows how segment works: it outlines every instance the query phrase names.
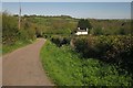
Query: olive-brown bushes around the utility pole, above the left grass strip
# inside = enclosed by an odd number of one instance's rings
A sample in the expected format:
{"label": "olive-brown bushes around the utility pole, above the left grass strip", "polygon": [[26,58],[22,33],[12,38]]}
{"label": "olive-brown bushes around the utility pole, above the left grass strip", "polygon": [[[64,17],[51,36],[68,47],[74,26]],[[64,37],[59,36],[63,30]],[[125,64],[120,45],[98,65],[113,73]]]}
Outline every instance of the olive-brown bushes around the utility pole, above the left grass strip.
{"label": "olive-brown bushes around the utility pole, above the left grass strip", "polygon": [[18,29],[18,16],[13,16],[3,12],[2,14],[2,43],[12,45],[17,41],[27,42],[35,38],[33,24],[27,21],[21,21],[21,29]]}

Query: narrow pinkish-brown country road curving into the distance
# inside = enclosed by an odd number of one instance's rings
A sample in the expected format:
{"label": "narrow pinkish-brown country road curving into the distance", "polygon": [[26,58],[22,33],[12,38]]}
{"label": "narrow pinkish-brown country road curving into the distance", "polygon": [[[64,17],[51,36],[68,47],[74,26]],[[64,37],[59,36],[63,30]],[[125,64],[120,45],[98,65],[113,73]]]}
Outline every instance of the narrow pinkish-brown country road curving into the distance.
{"label": "narrow pinkish-brown country road curving into the distance", "polygon": [[44,38],[39,38],[35,43],[3,56],[3,86],[53,86],[40,61],[39,54],[44,42]]}

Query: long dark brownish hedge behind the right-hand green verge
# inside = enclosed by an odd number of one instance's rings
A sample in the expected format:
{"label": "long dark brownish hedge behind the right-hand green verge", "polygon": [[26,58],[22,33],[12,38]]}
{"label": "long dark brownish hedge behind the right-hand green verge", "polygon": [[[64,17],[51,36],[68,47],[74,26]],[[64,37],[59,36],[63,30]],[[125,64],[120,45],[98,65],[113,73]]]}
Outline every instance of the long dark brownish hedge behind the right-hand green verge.
{"label": "long dark brownish hedge behind the right-hand green verge", "polygon": [[78,36],[73,44],[85,58],[133,67],[133,36]]}

